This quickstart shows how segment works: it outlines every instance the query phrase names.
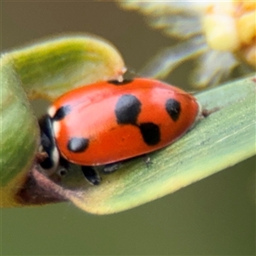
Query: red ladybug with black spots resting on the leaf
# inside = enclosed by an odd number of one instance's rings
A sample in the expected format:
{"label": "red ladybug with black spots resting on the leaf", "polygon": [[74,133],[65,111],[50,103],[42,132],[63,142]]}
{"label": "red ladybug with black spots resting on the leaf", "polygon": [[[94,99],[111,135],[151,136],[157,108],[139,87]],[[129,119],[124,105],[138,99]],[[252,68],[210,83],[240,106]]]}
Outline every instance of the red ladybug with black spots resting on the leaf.
{"label": "red ladybug with black spots resting on the leaf", "polygon": [[85,85],[57,99],[40,121],[41,144],[48,154],[40,165],[55,172],[73,163],[97,184],[100,177],[93,166],[166,147],[191,128],[200,109],[194,96],[159,80]]}

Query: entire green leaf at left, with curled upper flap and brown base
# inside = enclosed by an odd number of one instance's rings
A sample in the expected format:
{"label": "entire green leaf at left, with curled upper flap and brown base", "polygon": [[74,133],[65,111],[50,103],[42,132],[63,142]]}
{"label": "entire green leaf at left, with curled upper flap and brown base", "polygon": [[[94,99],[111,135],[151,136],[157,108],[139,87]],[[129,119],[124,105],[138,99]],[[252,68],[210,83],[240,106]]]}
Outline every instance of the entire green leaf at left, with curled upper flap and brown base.
{"label": "entire green leaf at left, with curled upper flap and brown base", "polygon": [[1,56],[1,207],[63,199],[59,195],[51,198],[49,189],[41,191],[32,176],[40,138],[38,119],[28,99],[54,101],[84,84],[121,80],[124,72],[119,51],[88,34],[40,40]]}

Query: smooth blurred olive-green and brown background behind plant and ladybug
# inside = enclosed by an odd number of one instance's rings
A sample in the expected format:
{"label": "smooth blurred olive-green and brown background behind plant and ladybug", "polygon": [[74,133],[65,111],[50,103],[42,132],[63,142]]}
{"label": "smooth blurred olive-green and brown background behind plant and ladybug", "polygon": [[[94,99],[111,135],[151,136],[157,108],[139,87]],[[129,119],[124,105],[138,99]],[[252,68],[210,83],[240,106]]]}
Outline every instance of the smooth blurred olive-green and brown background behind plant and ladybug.
{"label": "smooth blurred olive-green and brown background behind plant and ladybug", "polygon": [[[63,32],[111,41],[133,71],[171,44],[111,2],[2,2],[2,49]],[[186,87],[186,70],[168,82]],[[172,82],[171,82],[172,81]],[[45,109],[35,104],[37,113]],[[71,203],[1,210],[1,255],[255,255],[255,157],[173,195],[109,216]]]}

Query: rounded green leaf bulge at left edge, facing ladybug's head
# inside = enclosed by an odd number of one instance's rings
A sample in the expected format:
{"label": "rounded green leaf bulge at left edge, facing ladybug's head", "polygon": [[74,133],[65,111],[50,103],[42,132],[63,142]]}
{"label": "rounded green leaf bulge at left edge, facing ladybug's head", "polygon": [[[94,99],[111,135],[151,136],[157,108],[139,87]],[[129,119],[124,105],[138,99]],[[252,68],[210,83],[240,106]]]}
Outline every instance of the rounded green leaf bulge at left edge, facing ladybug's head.
{"label": "rounded green leaf bulge at left edge, facing ladybug's head", "polygon": [[[7,57],[7,58],[6,58]],[[38,120],[8,56],[1,59],[1,207],[15,203],[15,192],[32,168],[38,149]]]}

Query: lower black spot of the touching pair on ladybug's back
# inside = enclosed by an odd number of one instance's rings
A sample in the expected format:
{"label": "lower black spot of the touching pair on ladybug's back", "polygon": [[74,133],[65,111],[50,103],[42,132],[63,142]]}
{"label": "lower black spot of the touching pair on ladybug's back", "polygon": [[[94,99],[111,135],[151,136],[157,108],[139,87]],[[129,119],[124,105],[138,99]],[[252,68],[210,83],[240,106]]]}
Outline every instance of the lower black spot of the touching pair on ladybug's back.
{"label": "lower black spot of the touching pair on ladybug's back", "polygon": [[142,135],[143,140],[148,145],[156,145],[160,143],[160,128],[154,123],[143,123],[138,126]]}

